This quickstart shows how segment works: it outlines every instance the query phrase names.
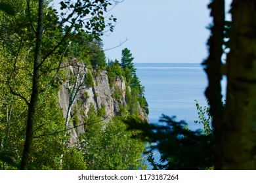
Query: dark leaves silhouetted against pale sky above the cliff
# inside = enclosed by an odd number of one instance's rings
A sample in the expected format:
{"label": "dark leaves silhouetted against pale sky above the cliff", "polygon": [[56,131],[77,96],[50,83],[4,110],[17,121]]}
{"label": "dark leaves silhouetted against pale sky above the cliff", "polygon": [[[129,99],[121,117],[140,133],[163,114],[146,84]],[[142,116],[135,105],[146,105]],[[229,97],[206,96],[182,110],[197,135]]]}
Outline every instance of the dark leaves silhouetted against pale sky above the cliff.
{"label": "dark leaves silhouetted against pale sky above the cliff", "polygon": [[[103,31],[109,27],[110,31],[113,31],[113,22],[116,22],[114,16],[108,17],[106,20],[106,12],[108,7],[112,5],[108,1],[61,1],[60,9],[68,10],[70,13],[61,12],[62,24],[67,23],[75,31],[83,29],[86,33],[91,33],[96,39],[102,35]],[[77,25],[80,25],[78,27]]]}

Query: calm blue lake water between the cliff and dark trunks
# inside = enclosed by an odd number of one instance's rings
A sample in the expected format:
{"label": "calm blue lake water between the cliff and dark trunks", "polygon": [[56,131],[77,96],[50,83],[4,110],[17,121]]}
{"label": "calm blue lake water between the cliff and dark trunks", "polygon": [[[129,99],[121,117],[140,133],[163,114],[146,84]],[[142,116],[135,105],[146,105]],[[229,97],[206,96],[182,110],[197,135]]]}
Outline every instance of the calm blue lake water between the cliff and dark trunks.
{"label": "calm blue lake water between the cliff and dark trunks", "polygon": [[207,78],[200,63],[135,63],[137,76],[145,86],[150,123],[161,114],[185,120],[190,129],[198,129],[197,100],[205,106]]}

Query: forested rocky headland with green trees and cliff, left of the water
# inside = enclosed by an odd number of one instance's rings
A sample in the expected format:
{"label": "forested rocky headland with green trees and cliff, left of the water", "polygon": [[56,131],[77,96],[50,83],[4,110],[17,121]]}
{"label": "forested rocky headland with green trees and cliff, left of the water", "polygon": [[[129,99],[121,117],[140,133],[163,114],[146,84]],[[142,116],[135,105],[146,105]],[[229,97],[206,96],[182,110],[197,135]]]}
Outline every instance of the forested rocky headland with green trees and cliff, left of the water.
{"label": "forested rocky headland with green trees and cliff, left of the water", "polygon": [[[147,122],[133,56],[125,48],[106,61],[102,49],[110,2],[60,3],[70,14],[49,3],[1,1],[0,168],[145,169],[145,143],[124,123]],[[105,90],[114,109],[100,101]]]}

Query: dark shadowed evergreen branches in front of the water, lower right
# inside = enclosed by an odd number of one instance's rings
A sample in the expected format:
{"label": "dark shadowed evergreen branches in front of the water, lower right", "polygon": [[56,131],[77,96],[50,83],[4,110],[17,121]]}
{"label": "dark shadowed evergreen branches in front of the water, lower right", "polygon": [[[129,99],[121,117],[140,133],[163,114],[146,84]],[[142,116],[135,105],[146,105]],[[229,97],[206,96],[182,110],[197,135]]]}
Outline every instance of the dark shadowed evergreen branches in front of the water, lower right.
{"label": "dark shadowed evergreen branches in front of the water, lower right", "polygon": [[151,150],[160,152],[160,163],[149,156],[154,169],[209,169],[214,163],[213,134],[191,131],[186,122],[175,121],[175,116],[161,116],[158,124],[129,120],[129,129],[139,129],[140,139],[149,141]]}

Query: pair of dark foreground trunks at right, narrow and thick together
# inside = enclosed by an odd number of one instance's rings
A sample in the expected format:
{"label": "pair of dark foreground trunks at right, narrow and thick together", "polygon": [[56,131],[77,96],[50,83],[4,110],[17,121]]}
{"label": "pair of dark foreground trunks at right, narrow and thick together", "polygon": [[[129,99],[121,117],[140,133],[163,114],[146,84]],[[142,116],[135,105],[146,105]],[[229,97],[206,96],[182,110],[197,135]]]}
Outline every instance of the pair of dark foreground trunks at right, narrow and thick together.
{"label": "pair of dark foreground trunks at right, narrow and thick together", "polygon": [[205,61],[209,100],[215,129],[216,169],[256,169],[255,167],[255,16],[256,1],[232,1],[230,52],[226,59],[228,79],[226,105],[221,105],[221,56],[224,37],[224,1],[212,1],[214,25]]}

